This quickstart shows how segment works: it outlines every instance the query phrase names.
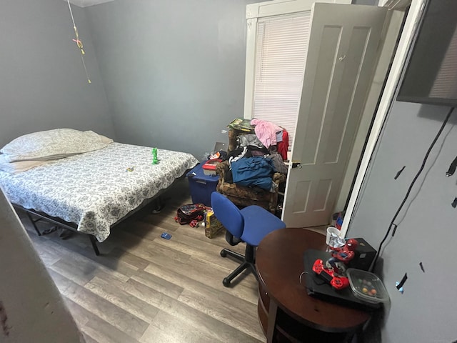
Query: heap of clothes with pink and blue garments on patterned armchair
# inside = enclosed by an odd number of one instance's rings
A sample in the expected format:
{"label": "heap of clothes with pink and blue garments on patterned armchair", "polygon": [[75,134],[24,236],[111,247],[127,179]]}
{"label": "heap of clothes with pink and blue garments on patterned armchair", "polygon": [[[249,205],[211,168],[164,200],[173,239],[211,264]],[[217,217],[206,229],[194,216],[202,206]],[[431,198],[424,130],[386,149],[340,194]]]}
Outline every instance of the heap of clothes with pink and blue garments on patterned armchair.
{"label": "heap of clothes with pink and blue garments on patterned armchair", "polygon": [[[275,192],[273,173],[287,174],[288,133],[281,126],[260,119],[235,119],[229,128],[238,131],[234,149],[230,149],[230,164],[226,182],[247,187],[259,187]],[[243,132],[243,134],[239,134]]]}

